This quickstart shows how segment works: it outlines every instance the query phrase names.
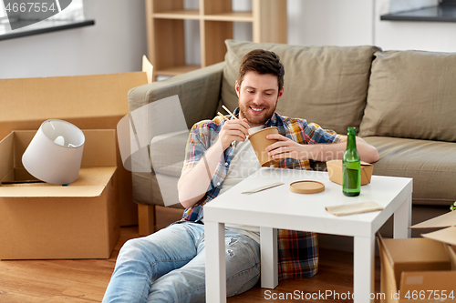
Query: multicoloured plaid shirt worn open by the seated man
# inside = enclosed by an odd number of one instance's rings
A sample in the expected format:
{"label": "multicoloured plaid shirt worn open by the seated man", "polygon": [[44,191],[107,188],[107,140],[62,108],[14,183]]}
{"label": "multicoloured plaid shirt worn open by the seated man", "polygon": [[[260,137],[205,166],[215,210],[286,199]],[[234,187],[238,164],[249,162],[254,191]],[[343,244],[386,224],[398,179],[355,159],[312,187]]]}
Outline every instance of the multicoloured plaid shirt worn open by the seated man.
{"label": "multicoloured plaid shirt worn open by the seated man", "polygon": [[[236,108],[234,115],[237,116],[238,113],[239,108]],[[217,139],[223,123],[223,117],[216,116],[212,120],[204,120],[192,127],[182,171],[194,167],[200,161],[207,149]],[[300,144],[335,143],[341,138],[334,131],[323,129],[314,123],[307,123],[304,119],[289,118],[276,113],[264,124],[264,127],[270,126],[276,126],[279,134]],[[185,209],[182,220],[202,220],[204,204],[217,197],[223,186],[223,180],[228,173],[233,152],[234,146],[229,146],[224,150],[206,195],[193,207]],[[272,167],[310,169],[310,162],[286,158]],[[316,234],[279,229],[277,235],[279,279],[314,276],[318,270]]]}

